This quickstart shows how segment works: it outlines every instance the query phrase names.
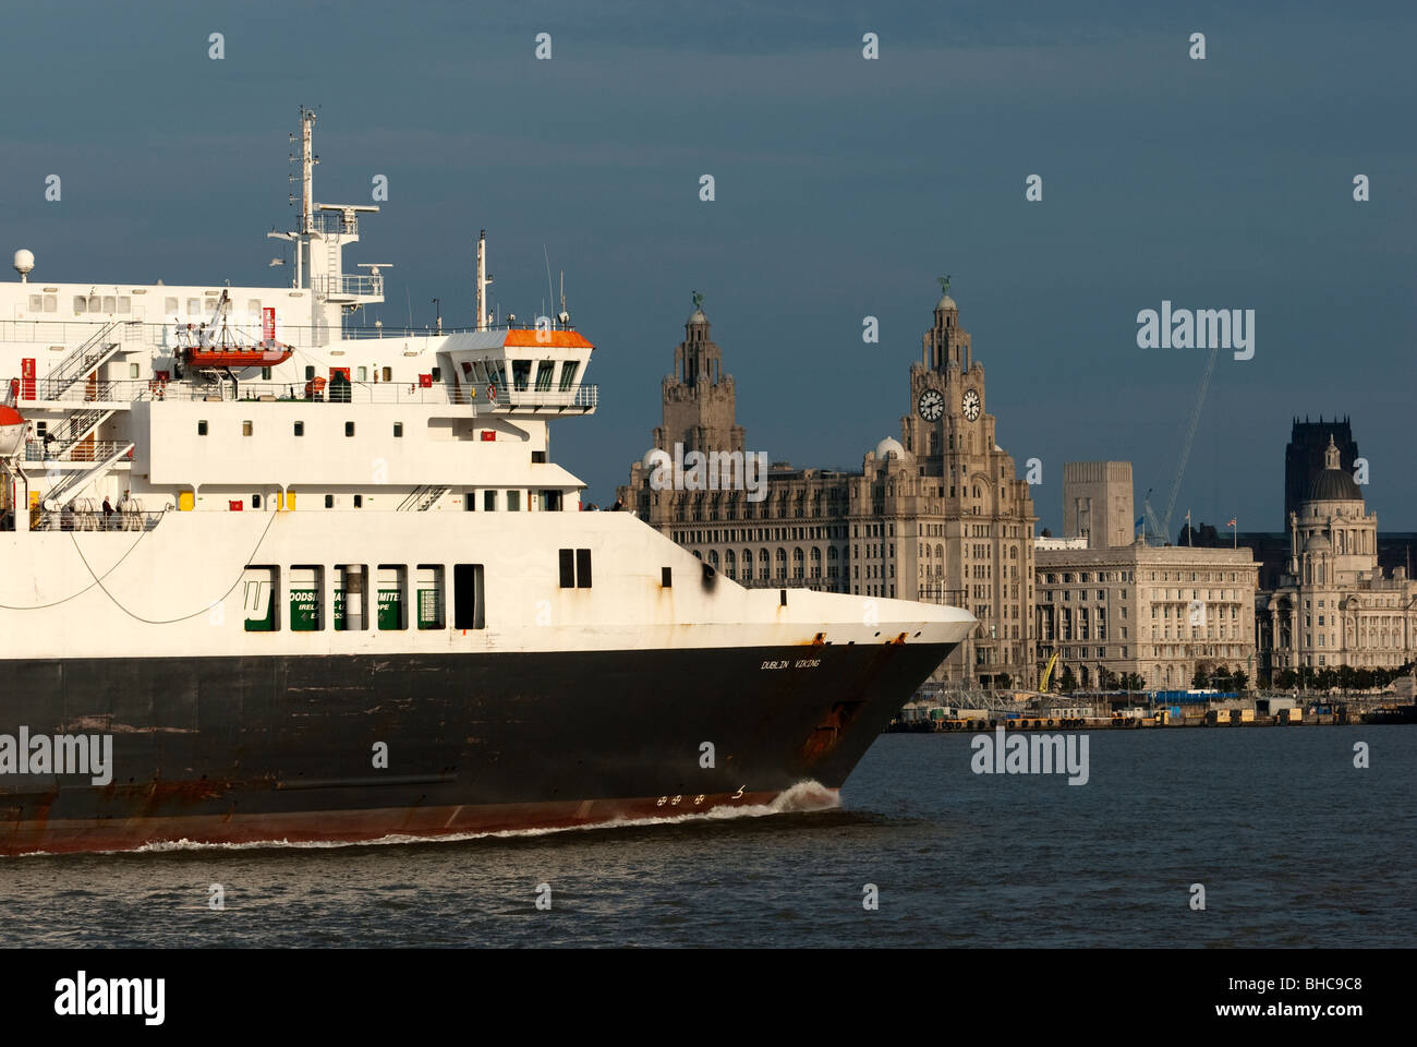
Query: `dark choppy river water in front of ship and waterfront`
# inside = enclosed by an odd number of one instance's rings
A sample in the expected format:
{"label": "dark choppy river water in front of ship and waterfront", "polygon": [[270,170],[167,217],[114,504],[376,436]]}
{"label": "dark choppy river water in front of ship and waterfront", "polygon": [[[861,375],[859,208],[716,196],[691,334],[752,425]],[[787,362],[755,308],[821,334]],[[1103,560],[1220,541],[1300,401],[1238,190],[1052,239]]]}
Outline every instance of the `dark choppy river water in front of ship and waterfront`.
{"label": "dark choppy river water in front of ship and waterfront", "polygon": [[[1369,769],[1353,743],[1370,746]],[[0,858],[0,945],[1417,941],[1417,729],[1090,735],[1090,782],[886,735],[837,809],[361,847]],[[1189,907],[1204,884],[1206,911]],[[225,909],[208,908],[221,884]],[[537,885],[551,908],[536,908]],[[879,911],[862,905],[874,884]]]}

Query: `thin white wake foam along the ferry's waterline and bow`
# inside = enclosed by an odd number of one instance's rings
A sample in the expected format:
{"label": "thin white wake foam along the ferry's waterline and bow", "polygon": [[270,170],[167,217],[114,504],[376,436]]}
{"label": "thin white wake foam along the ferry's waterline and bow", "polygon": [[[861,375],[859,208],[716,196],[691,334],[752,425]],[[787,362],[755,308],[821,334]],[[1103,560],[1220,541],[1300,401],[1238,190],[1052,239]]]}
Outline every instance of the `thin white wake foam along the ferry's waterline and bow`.
{"label": "thin white wake foam along the ferry's waterline and bow", "polygon": [[[760,819],[768,814],[801,814],[818,810],[832,810],[840,806],[840,797],[820,782],[798,782],[789,789],[784,789],[769,803],[750,803],[744,806],[720,804],[706,811],[686,811],[683,814],[650,816],[643,819],[618,817],[606,821],[595,821],[587,826],[560,826],[554,829],[500,829],[489,833],[442,833],[436,836],[390,833],[377,840],[252,840],[248,843],[198,843],[196,840],[164,840],[162,843],[143,844],[128,851],[96,851],[98,854],[164,854],[167,851],[254,851],[265,847],[290,850],[334,850],[341,847],[387,847],[391,844],[421,844],[421,843],[458,843],[462,840],[517,840],[538,836],[553,836],[557,833],[589,833],[604,829],[623,829],[628,826],[676,826],[691,821],[731,821],[735,819]],[[44,854],[35,851],[34,854]],[[30,857],[30,855],[24,855]]]}

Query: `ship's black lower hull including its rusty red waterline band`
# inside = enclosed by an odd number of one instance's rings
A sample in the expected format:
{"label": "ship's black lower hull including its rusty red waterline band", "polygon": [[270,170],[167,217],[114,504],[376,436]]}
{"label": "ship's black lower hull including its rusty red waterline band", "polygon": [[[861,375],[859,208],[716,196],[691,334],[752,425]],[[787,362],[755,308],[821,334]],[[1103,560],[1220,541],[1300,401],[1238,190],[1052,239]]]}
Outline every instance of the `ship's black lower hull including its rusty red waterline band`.
{"label": "ship's black lower hull including its rusty red waterline band", "polygon": [[589,824],[837,789],[951,650],[13,660],[0,733],[111,733],[112,782],[0,775],[0,854]]}

